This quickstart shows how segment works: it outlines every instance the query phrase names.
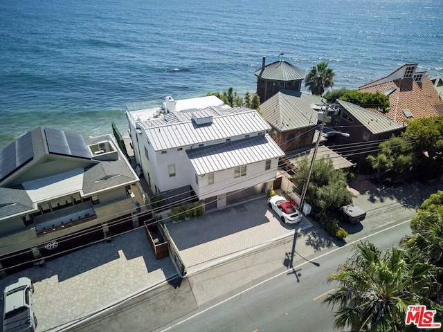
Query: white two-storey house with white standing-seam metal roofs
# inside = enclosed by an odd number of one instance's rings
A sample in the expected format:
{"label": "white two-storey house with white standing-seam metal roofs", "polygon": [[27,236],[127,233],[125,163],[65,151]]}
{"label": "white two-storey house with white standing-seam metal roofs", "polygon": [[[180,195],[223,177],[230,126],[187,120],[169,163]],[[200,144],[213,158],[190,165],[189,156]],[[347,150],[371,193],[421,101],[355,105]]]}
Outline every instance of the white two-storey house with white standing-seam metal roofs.
{"label": "white two-storey house with white standing-seam metal roofs", "polygon": [[[284,152],[257,111],[229,107],[215,95],[165,98],[161,107],[128,104],[138,167],[152,192],[181,189],[221,208],[270,189]],[[177,200],[177,196],[176,196]]]}

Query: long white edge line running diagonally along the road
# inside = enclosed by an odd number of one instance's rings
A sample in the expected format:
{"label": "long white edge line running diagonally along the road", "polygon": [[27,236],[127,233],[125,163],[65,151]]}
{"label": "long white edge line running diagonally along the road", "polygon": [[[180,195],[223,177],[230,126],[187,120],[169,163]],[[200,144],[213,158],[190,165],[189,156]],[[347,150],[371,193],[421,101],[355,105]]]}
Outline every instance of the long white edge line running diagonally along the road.
{"label": "long white edge line running diagonally along the road", "polygon": [[[372,233],[372,234],[368,234],[365,237],[362,237],[361,239],[356,239],[356,240],[354,240],[354,241],[352,241],[350,243],[346,243],[344,246],[341,246],[341,247],[335,248],[335,249],[333,249],[331,251],[325,252],[323,255],[320,255],[320,256],[315,257],[315,258],[319,259],[321,257],[325,257],[326,255],[332,254],[332,252],[336,252],[337,250],[341,250],[341,248],[345,248],[347,246],[351,246],[354,243],[360,242],[360,241],[362,241],[364,239],[368,239],[368,237],[373,237],[374,235],[380,234],[381,232],[386,232],[386,230],[390,230],[392,228],[395,228],[397,226],[400,226],[400,225],[403,225],[404,223],[409,223],[409,222],[410,222],[410,219],[406,220],[406,221],[402,221],[401,223],[397,223],[395,225],[392,225],[392,226],[390,226],[388,228],[385,228],[383,230],[379,230],[378,232],[375,232],[375,233]],[[303,263],[298,264],[298,266],[294,266],[293,268],[296,269],[296,268],[299,268],[300,266],[303,266],[303,265],[308,264],[308,263],[310,263],[310,261],[304,261]],[[253,285],[253,286],[251,286],[249,288],[246,288],[244,291],[241,291],[241,292],[239,292],[239,293],[237,293],[235,295],[232,295],[232,296],[228,297],[227,299],[224,299],[223,301],[220,301],[219,303],[214,304],[213,306],[210,306],[210,307],[208,307],[208,308],[206,308],[206,309],[204,309],[202,311],[199,311],[198,313],[195,313],[194,315],[189,316],[189,317],[185,318],[184,320],[181,320],[180,322],[177,322],[177,323],[169,326],[168,328],[161,330],[161,332],[169,331],[170,329],[173,329],[174,327],[176,327],[176,326],[178,326],[180,324],[183,324],[184,322],[188,322],[188,320],[192,320],[193,318],[201,315],[202,313],[206,313],[206,311],[210,311],[213,308],[216,308],[217,306],[230,301],[231,299],[235,299],[235,297],[238,297],[239,295],[247,293],[248,291],[251,291],[252,289],[257,288],[258,286],[262,286],[262,284],[265,284],[266,282],[270,282],[271,280],[273,280],[275,278],[278,278],[281,275],[286,274],[287,272],[288,272],[287,270],[284,270],[284,271],[274,275],[273,277],[269,277],[268,279],[263,280],[262,282],[259,282],[258,284],[255,284],[255,285]]]}

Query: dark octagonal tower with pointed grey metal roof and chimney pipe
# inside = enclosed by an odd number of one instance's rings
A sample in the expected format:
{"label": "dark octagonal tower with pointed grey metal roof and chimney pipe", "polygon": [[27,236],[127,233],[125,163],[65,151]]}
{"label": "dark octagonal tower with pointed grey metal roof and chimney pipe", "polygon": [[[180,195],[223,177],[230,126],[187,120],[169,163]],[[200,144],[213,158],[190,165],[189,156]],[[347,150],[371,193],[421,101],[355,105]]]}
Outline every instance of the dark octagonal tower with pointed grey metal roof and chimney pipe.
{"label": "dark octagonal tower with pointed grey metal roof and chimney pipe", "polygon": [[263,57],[262,68],[255,71],[254,75],[257,76],[257,95],[263,104],[280,90],[300,92],[306,73],[282,57],[267,65],[266,57]]}

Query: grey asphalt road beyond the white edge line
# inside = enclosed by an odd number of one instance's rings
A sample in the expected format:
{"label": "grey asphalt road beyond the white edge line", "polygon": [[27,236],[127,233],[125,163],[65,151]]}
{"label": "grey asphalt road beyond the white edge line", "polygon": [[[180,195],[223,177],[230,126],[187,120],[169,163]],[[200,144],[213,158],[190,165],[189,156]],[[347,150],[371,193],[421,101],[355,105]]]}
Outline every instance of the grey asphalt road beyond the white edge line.
{"label": "grey asphalt road beyond the white edge line", "polygon": [[[397,246],[405,234],[410,234],[409,222],[366,239],[386,250]],[[293,270],[276,273],[221,302],[200,307],[157,331],[332,331],[333,312],[322,301],[338,285],[326,280],[352,255],[354,243],[311,257]]]}

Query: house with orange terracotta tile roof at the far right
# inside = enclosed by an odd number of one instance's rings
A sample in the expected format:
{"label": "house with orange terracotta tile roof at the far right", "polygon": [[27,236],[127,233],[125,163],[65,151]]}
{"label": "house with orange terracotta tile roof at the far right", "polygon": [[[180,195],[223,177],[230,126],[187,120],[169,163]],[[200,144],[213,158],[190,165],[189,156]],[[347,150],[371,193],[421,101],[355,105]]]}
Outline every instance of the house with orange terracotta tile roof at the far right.
{"label": "house with orange terracotta tile roof at the far right", "polygon": [[371,110],[397,122],[430,118],[443,113],[443,101],[426,71],[418,71],[418,64],[404,64],[378,80],[359,87],[358,91],[384,93],[389,96],[389,110]]}

